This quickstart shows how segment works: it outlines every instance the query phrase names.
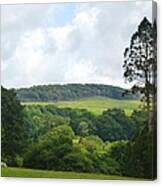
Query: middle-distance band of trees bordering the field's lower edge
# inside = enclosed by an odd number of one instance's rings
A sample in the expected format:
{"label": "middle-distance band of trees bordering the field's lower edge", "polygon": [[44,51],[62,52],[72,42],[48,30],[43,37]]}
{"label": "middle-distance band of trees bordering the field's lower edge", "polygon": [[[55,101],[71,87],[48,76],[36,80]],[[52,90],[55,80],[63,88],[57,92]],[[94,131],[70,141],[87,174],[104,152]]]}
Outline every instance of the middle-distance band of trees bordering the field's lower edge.
{"label": "middle-distance band of trees bordering the field's lower edge", "polygon": [[[97,116],[86,109],[58,108],[54,105],[28,105],[26,120],[30,123],[31,139],[37,139],[51,128],[66,124],[81,137],[98,136],[103,141],[130,140],[143,127],[142,116],[136,111],[129,117],[120,109],[104,111]],[[139,120],[138,122],[137,119]]]}

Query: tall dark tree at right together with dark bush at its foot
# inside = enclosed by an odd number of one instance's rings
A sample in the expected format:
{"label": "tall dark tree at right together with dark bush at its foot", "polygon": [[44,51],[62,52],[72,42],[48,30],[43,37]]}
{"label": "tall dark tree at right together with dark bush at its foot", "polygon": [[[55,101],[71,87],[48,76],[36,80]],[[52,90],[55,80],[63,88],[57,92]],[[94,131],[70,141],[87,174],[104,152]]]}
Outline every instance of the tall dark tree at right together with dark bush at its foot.
{"label": "tall dark tree at right together with dark bush at its foot", "polygon": [[[156,22],[144,18],[124,52],[124,77],[133,83],[132,92],[142,95],[145,127],[131,143],[127,161],[128,175],[156,178],[156,113],[157,113],[157,30]],[[135,113],[138,114],[138,113]],[[132,119],[137,117],[133,116]],[[136,119],[137,120],[137,119]],[[133,165],[133,166],[132,166]]]}

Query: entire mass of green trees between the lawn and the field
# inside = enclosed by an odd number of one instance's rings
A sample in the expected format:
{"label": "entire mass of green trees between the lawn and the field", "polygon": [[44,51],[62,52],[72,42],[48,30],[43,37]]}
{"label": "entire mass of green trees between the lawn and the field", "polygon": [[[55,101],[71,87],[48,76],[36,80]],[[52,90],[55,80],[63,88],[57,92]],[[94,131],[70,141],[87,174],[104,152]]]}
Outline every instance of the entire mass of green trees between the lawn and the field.
{"label": "entire mass of green trees between the lawn and the field", "polygon": [[[9,166],[152,178],[144,111],[95,116],[53,105],[26,106],[2,88],[2,161]],[[141,153],[142,152],[142,153]]]}

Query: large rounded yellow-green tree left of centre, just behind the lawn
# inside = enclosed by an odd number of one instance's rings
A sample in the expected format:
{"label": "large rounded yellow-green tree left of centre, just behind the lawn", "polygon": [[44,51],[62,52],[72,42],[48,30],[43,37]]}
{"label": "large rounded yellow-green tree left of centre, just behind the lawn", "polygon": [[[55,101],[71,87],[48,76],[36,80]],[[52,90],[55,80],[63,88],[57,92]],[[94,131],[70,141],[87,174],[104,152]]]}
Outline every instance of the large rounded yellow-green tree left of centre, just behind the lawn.
{"label": "large rounded yellow-green tree left of centre, just behind the lawn", "polygon": [[54,127],[29,149],[24,164],[30,168],[61,170],[63,157],[71,152],[74,133],[67,125]]}

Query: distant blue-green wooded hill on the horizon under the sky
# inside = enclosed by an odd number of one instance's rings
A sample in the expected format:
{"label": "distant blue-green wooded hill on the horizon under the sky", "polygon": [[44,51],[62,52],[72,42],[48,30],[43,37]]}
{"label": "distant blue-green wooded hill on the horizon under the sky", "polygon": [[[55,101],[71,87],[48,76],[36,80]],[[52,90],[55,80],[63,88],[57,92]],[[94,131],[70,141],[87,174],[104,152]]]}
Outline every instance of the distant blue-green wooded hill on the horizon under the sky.
{"label": "distant blue-green wooded hill on the horizon under the sky", "polygon": [[16,90],[19,99],[23,102],[56,102],[91,96],[102,96],[119,100],[137,98],[137,95],[132,95],[131,93],[123,96],[125,91],[125,89],[120,87],[102,84],[39,85]]}

